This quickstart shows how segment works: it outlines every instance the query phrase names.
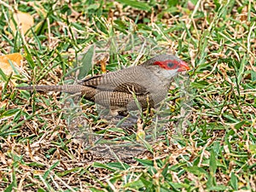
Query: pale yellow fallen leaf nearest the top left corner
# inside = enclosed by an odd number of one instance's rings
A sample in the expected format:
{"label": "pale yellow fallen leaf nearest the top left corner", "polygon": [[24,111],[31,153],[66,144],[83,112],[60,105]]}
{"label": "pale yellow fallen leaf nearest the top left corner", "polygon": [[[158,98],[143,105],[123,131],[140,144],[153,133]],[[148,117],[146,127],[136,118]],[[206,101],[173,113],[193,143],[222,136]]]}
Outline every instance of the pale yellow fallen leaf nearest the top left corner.
{"label": "pale yellow fallen leaf nearest the top left corner", "polygon": [[[32,15],[29,15],[27,13],[17,11],[14,14],[14,19],[18,28],[20,28],[20,32],[22,32],[23,34],[25,34],[34,25],[34,19]],[[13,22],[13,20],[11,20],[10,22],[10,27],[13,32],[16,32],[15,23]]]}

